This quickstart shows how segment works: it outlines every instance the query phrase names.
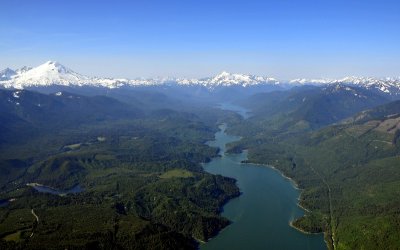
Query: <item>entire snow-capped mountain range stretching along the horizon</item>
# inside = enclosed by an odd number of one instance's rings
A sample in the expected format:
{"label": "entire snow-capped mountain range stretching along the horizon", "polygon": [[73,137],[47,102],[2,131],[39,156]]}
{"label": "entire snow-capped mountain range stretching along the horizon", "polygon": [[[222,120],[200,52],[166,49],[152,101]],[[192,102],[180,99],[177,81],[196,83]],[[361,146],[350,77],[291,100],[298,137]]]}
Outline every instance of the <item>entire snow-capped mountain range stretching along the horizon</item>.
{"label": "entire snow-capped mountain range stretching along the horizon", "polygon": [[260,87],[273,86],[290,88],[299,85],[336,85],[345,84],[376,90],[388,95],[400,94],[400,78],[345,77],[342,79],[294,79],[277,80],[272,77],[249,74],[232,74],[222,72],[214,77],[201,79],[188,78],[100,78],[79,74],[55,61],[48,61],[38,67],[23,67],[18,70],[6,68],[0,71],[0,87],[23,89],[28,87],[48,86],[89,86],[105,88],[138,87],[138,86],[201,86],[209,90],[219,87]]}

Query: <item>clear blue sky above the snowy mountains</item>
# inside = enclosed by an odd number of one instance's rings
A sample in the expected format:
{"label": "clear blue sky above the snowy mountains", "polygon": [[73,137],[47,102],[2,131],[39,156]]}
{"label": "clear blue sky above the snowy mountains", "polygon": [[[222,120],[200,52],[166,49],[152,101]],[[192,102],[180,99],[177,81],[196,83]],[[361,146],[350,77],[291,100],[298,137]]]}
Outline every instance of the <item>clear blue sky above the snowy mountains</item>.
{"label": "clear blue sky above the snowy mountains", "polygon": [[0,0],[0,31],[0,68],[400,76],[398,0]]}

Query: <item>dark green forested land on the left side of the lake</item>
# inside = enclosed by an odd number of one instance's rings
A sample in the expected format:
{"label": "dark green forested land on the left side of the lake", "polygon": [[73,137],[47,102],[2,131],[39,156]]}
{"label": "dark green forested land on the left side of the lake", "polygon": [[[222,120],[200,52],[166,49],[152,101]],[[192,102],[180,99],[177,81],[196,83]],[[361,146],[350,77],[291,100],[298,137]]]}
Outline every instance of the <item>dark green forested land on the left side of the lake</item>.
{"label": "dark green forested land on the left side of the lake", "polygon": [[238,115],[30,91],[15,106],[1,94],[1,249],[195,249],[230,223],[219,213],[235,180],[201,163],[218,153],[205,145],[216,124]]}

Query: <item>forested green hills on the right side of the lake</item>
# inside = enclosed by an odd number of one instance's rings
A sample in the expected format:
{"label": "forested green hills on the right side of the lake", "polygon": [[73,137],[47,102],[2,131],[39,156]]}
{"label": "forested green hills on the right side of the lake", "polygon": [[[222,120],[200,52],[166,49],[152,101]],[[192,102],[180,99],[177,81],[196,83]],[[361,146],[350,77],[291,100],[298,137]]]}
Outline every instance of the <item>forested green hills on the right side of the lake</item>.
{"label": "forested green hills on the right side of the lake", "polygon": [[307,210],[292,225],[325,232],[330,249],[400,248],[400,102],[364,91],[260,94],[264,103],[241,101],[254,115],[230,129],[243,137],[231,152],[246,149],[249,162],[274,166],[296,181]]}

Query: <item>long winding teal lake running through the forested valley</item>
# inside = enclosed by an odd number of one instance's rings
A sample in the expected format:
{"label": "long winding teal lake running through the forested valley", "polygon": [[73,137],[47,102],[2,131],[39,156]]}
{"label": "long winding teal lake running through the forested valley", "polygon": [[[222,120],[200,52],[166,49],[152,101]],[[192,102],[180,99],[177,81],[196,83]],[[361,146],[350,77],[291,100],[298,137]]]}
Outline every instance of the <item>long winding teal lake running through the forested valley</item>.
{"label": "long winding teal lake running through the forested valley", "polygon": [[209,173],[236,179],[242,195],[223,207],[222,216],[232,224],[200,249],[327,249],[323,234],[304,234],[289,225],[304,214],[297,205],[300,191],[272,168],[241,163],[247,152],[226,154],[226,144],[240,137],[226,134],[225,129],[226,125],[221,125],[215,140],[208,143],[220,149],[221,157],[203,167]]}

